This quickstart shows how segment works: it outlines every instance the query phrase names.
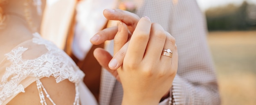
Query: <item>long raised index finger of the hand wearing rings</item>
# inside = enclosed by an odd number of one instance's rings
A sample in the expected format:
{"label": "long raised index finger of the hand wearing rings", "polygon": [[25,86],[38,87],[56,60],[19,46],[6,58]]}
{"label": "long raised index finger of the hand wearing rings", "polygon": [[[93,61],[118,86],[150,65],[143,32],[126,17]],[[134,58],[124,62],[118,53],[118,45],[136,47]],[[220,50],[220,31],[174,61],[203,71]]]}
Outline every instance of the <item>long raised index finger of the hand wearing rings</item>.
{"label": "long raised index finger of the hand wearing rings", "polygon": [[[126,53],[127,63],[139,63],[144,57],[150,35],[151,22],[148,17],[139,20]],[[126,60],[124,60],[126,61]]]}

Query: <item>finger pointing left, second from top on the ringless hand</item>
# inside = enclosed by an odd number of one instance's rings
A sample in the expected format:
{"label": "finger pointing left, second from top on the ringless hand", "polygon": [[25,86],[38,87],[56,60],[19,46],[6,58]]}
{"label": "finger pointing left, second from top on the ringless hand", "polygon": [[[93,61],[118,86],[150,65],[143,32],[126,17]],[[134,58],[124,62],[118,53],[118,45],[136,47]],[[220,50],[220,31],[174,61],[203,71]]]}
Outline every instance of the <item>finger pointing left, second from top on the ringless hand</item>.
{"label": "finger pointing left, second from top on the ringless hand", "polygon": [[114,39],[115,35],[117,34],[118,28],[117,26],[110,27],[103,29],[96,33],[91,39],[90,42],[95,45],[102,44],[103,42],[107,40]]}

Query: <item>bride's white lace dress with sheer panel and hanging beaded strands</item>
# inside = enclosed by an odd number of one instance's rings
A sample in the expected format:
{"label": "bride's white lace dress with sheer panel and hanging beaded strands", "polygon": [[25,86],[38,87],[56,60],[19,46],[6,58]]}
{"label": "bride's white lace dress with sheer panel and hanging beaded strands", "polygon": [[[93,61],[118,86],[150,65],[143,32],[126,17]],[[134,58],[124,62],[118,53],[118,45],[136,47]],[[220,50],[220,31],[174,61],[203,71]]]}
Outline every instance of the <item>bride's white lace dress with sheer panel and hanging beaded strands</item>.
{"label": "bride's white lace dress with sheer panel and hanging beaded strands", "polygon": [[[47,50],[42,50],[42,46]],[[34,33],[33,39],[22,42],[5,56],[0,62],[0,105],[9,103],[35,81],[40,103],[46,105],[45,98],[48,98],[55,104],[40,81],[43,77],[51,76],[56,79],[56,83],[68,79],[75,84],[74,105],[79,105],[80,102],[83,105],[97,105],[83,84],[85,74],[63,50],[42,39],[38,33]]]}

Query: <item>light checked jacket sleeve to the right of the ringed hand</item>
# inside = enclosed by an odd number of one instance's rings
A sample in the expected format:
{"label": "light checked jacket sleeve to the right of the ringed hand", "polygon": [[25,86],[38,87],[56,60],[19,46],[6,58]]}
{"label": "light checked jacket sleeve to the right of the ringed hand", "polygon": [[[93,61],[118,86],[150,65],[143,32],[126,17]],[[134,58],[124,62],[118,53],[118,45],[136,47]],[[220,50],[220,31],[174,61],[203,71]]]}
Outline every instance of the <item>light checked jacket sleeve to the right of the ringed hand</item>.
{"label": "light checked jacket sleeve to the right of the ringed hand", "polygon": [[[172,104],[219,105],[218,83],[207,44],[204,14],[195,0],[172,2],[169,13],[167,30],[176,39],[179,55],[178,71],[170,92]],[[168,105],[168,101],[160,105]]]}

